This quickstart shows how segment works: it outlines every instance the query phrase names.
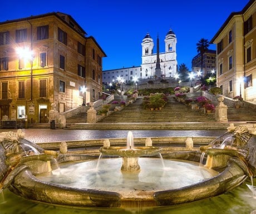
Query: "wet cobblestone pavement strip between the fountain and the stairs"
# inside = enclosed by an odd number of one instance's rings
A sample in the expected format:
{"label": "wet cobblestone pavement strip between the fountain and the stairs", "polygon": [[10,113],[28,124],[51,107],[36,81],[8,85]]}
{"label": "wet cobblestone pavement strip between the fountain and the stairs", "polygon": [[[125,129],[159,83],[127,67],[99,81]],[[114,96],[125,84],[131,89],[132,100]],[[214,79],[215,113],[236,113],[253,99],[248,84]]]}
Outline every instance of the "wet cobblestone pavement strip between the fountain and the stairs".
{"label": "wet cobblestone pavement strip between the fountain and the stairs", "polygon": [[[17,130],[1,130],[0,132]],[[71,140],[90,140],[105,138],[126,138],[130,130],[62,130],[31,128],[23,129],[25,138],[33,143],[58,142]],[[218,137],[224,130],[131,130],[134,138],[137,137]]]}

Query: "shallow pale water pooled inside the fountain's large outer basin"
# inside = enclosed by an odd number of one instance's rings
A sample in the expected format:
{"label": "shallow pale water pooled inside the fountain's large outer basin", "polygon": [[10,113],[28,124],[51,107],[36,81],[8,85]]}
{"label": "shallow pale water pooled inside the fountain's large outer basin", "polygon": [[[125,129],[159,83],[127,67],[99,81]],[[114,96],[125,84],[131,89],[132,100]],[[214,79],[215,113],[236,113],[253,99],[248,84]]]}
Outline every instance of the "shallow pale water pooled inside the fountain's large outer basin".
{"label": "shallow pale water pooled inside the fountain's large outer basin", "polygon": [[[164,170],[160,158],[141,157],[139,173],[120,171],[122,158],[104,159],[96,171],[97,161],[66,163],[61,165],[62,175],[53,171],[47,175],[38,175],[37,178],[70,187],[119,192],[122,197],[130,198],[145,197],[146,192],[181,188],[218,175],[208,168],[202,168],[199,172],[198,163],[190,161],[165,160],[165,167],[169,170]],[[140,195],[138,191],[144,194]]]}

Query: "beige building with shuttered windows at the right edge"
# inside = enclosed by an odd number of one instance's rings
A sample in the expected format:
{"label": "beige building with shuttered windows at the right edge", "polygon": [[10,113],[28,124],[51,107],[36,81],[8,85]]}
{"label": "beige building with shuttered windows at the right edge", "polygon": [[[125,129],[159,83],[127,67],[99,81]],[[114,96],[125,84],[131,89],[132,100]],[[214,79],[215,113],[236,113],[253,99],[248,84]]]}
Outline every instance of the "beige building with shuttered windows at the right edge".
{"label": "beige building with shuttered windows at the right edge", "polygon": [[231,13],[210,43],[216,44],[216,84],[223,95],[256,101],[256,2]]}

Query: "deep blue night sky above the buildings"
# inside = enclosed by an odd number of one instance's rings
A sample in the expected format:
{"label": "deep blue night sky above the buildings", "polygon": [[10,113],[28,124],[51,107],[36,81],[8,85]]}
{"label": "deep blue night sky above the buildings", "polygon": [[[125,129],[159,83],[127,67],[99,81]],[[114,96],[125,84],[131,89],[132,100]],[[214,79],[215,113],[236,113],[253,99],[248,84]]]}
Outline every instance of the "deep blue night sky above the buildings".
{"label": "deep blue night sky above the buildings", "polygon": [[[232,12],[241,11],[249,0],[73,0],[7,1],[1,2],[0,22],[36,16],[49,12],[70,14],[87,32],[95,37],[107,57],[103,69],[140,66],[141,42],[146,33],[154,39],[159,34],[160,52],[170,28],[177,37],[178,65],[191,69],[191,60],[198,54],[196,43],[209,41]],[[15,5],[15,6],[14,6]],[[3,9],[5,8],[5,9]],[[210,49],[216,49],[210,45]]]}

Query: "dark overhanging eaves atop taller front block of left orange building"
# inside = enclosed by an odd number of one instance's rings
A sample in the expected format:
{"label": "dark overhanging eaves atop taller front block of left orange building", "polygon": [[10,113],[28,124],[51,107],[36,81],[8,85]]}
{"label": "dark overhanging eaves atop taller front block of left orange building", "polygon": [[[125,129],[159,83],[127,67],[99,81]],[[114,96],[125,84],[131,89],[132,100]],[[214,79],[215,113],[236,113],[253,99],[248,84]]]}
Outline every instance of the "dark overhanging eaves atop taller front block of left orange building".
{"label": "dark overhanging eaves atop taller front block of left orange building", "polygon": [[[8,23],[12,23],[12,22],[21,22],[21,21],[27,21],[29,19],[36,19],[36,18],[41,18],[41,17],[46,17],[46,16],[56,16],[57,18],[59,18],[62,22],[64,22],[65,24],[68,25],[68,27],[70,27],[70,25],[65,21],[63,20],[59,15],[58,13],[62,13],[62,12],[50,12],[50,13],[45,13],[45,14],[40,14],[40,15],[36,15],[36,16],[29,16],[29,17],[25,17],[25,18],[18,18],[18,19],[12,19],[12,20],[7,20],[7,21],[4,21],[4,22],[0,22],[0,24],[8,24]],[[75,21],[75,19],[69,15],[69,14],[66,14],[66,13],[62,13],[62,14],[65,14],[66,16],[70,17],[72,19],[72,21],[74,21],[77,26],[81,29],[82,33],[83,33],[83,36],[87,35],[87,33],[85,32],[85,30]],[[72,27],[71,27],[72,28]],[[79,34],[81,34],[81,32],[77,31],[77,29],[75,28],[72,28],[74,29],[76,32],[78,32]]]}

